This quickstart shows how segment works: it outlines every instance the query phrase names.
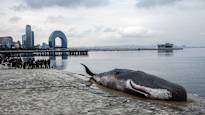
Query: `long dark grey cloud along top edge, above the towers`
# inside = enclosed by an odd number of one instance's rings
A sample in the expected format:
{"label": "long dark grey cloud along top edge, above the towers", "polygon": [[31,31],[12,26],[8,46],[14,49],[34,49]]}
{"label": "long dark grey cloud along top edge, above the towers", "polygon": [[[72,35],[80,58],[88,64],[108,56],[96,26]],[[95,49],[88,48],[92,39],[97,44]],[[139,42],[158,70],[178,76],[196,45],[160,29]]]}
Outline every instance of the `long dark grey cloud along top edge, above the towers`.
{"label": "long dark grey cloud along top edge, above the towers", "polygon": [[109,0],[24,0],[30,8],[38,9],[45,7],[95,7],[108,4]]}

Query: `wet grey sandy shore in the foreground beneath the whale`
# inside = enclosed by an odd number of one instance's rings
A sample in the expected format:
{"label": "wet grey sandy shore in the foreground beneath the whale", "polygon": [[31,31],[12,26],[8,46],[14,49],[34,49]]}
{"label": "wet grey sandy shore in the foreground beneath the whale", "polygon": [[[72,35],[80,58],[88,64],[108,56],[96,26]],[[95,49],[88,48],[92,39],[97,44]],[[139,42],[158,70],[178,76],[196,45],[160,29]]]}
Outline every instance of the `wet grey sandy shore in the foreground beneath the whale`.
{"label": "wet grey sandy shore in the foreground beneath the whale", "polygon": [[0,69],[0,115],[201,115],[205,98],[188,102],[142,99],[59,70]]}

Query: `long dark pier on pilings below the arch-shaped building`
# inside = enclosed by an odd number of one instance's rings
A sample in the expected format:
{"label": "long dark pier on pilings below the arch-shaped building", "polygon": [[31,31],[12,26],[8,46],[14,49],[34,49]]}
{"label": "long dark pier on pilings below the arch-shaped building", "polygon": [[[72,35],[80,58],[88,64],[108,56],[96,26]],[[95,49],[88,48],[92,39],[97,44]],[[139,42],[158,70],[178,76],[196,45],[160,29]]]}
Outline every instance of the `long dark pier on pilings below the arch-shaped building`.
{"label": "long dark pier on pilings below the arch-shaped building", "polygon": [[87,56],[88,50],[0,50],[0,54],[19,56]]}

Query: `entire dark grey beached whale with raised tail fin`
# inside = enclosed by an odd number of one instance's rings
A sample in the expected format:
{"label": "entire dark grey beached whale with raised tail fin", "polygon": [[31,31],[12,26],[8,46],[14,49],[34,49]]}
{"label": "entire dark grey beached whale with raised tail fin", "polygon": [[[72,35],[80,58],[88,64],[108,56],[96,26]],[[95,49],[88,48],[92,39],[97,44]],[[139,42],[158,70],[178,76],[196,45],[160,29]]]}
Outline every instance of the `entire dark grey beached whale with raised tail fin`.
{"label": "entire dark grey beached whale with raised tail fin", "polygon": [[86,65],[82,65],[91,79],[105,87],[145,98],[187,101],[185,88],[157,76],[128,69],[114,69],[95,74]]}

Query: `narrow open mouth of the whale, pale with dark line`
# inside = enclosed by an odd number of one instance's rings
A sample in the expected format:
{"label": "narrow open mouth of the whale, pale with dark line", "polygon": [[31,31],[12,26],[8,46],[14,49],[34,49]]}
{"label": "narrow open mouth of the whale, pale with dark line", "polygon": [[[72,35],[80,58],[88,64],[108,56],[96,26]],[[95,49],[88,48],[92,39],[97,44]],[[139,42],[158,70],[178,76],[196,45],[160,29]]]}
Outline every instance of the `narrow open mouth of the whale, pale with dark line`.
{"label": "narrow open mouth of the whale, pale with dark line", "polygon": [[129,80],[129,84],[130,84],[132,90],[134,90],[135,92],[140,93],[140,94],[144,95],[145,97],[149,97],[149,96],[150,96],[150,93],[147,92],[147,91],[143,88],[143,86],[136,85],[135,83],[133,83],[132,80]]}

